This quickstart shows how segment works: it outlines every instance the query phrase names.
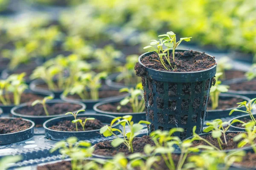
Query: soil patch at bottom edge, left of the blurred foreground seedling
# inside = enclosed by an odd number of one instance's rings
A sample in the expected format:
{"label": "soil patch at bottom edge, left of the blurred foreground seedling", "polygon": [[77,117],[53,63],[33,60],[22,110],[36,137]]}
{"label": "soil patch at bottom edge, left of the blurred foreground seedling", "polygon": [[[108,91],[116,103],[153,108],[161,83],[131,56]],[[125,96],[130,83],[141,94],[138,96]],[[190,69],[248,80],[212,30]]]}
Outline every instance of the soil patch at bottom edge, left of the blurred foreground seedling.
{"label": "soil patch at bottom edge, left of the blurred foreground seedling", "polygon": [[72,170],[70,161],[60,161],[54,164],[38,166],[37,170]]}

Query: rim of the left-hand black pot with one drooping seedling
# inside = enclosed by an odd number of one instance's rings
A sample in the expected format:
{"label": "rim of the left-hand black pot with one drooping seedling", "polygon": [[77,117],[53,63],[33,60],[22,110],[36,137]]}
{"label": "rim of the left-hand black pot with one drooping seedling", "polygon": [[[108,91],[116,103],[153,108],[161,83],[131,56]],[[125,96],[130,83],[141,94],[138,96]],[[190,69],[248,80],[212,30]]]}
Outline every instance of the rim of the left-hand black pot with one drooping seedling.
{"label": "rim of the left-hand black pot with one drooping seedling", "polygon": [[[25,115],[25,114],[20,114],[20,113],[15,112],[15,110],[17,110],[19,108],[23,108],[23,107],[28,106],[29,103],[31,103],[31,102],[26,102],[26,103],[23,103],[21,105],[17,105],[14,108],[12,108],[11,109],[12,115],[17,116],[17,117],[26,117],[26,118],[55,118],[55,117],[58,117],[58,116],[65,115],[65,113],[62,113],[62,114],[49,115],[49,116],[46,116],[46,115],[45,116],[34,116],[34,115]],[[86,109],[86,105],[84,103],[77,102],[77,101],[67,102],[67,101],[64,101],[64,100],[61,100],[61,99],[52,99],[52,100],[47,101],[46,103],[71,103],[71,104],[82,106],[82,108],[79,109],[79,110],[85,110]],[[79,110],[77,110],[77,111],[79,111]],[[73,112],[77,112],[77,111],[73,111]]]}

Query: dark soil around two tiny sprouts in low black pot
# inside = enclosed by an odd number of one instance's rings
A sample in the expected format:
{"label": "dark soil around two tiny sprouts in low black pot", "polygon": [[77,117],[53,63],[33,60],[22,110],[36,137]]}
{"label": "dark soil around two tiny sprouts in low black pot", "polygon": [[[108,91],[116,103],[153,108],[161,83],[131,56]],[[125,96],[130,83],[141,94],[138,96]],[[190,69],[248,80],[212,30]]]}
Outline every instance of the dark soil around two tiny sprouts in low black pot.
{"label": "dark soil around two tiny sprouts in low black pot", "polygon": [[[83,122],[87,117],[78,117],[77,119],[81,119]],[[98,130],[101,127],[103,127],[103,123],[99,120],[87,120],[84,126],[84,130]],[[77,123],[78,131],[84,131],[81,124]],[[58,130],[58,131],[69,131],[69,132],[75,132],[76,131],[76,124],[72,123],[70,120],[64,120],[57,123],[57,125],[52,125],[48,127],[52,130]]]}

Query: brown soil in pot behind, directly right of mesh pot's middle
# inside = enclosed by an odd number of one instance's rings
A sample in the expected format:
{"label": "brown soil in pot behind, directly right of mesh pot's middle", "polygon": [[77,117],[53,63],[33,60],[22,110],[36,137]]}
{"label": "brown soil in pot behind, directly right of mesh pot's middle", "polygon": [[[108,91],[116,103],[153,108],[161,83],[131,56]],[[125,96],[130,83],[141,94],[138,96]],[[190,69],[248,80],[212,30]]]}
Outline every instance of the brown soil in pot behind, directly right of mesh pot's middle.
{"label": "brown soil in pot behind, directly right of mesh pot's middle", "polygon": [[[235,97],[232,97],[231,99],[219,99],[218,108],[216,108],[215,110],[225,110],[228,108],[236,108],[238,106],[236,103],[243,102],[243,101],[244,99],[235,98]],[[208,111],[212,110],[211,99],[209,100],[207,110]]]}

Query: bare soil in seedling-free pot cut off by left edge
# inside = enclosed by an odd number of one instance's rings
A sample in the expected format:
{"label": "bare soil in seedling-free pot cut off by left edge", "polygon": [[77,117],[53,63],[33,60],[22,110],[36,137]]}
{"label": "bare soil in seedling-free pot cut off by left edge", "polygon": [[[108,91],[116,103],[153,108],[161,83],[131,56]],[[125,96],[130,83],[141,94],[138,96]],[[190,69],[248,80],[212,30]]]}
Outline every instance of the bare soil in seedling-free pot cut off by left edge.
{"label": "bare soil in seedling-free pot cut off by left edge", "polygon": [[0,119],[0,134],[14,133],[21,130],[26,130],[31,127],[32,123],[17,119]]}

